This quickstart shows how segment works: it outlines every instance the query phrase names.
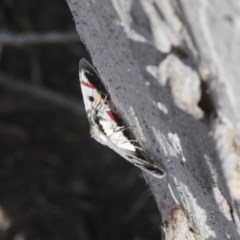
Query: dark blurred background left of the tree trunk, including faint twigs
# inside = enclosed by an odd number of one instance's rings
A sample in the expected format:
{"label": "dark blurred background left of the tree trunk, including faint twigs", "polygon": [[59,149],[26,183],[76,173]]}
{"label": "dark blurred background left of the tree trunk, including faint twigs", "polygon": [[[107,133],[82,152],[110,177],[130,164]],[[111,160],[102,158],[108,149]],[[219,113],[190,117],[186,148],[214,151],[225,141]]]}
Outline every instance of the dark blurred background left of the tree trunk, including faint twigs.
{"label": "dark blurred background left of the tree trunk, including faint twigs", "polygon": [[64,0],[0,0],[0,239],[161,239],[138,169],[90,139]]}

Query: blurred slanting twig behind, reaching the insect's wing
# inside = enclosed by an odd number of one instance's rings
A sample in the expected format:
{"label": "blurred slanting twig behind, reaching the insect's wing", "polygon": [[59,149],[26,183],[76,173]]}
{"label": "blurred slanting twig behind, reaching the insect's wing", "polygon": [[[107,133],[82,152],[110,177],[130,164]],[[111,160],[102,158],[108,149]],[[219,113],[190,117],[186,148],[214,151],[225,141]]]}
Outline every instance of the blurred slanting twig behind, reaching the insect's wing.
{"label": "blurred slanting twig behind, reaching the insect's wing", "polygon": [[9,91],[24,93],[25,95],[62,107],[75,114],[85,114],[83,105],[77,100],[69,100],[61,94],[32,84],[26,84],[21,80],[13,79],[2,73],[0,73],[0,87]]}

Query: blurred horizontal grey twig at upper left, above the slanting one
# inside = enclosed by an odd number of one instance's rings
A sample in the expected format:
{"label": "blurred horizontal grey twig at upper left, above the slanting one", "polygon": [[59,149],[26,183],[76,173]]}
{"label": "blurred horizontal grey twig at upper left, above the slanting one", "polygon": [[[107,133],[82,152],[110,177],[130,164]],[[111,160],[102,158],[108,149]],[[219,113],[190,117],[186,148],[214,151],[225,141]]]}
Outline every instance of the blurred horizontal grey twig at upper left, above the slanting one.
{"label": "blurred horizontal grey twig at upper left, above the slanting one", "polygon": [[75,32],[50,33],[10,33],[0,32],[0,44],[24,46],[33,44],[72,43],[80,42]]}

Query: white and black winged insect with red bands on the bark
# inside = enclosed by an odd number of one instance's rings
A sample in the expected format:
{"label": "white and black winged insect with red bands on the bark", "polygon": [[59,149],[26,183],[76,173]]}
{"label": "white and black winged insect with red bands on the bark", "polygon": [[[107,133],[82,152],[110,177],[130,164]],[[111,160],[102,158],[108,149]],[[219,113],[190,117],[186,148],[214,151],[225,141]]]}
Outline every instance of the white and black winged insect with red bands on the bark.
{"label": "white and black winged insect with red bands on the bark", "polygon": [[79,63],[79,79],[91,137],[143,171],[162,178],[163,170],[147,158],[131,127],[117,111],[99,74],[85,59]]}

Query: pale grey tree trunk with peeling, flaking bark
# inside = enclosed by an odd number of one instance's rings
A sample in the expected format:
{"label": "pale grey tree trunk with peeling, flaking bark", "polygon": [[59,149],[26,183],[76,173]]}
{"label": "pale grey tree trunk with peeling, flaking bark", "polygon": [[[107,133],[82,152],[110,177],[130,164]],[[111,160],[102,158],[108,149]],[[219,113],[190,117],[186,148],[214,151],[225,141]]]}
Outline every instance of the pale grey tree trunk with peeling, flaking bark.
{"label": "pale grey tree trunk with peeling, flaking bark", "polygon": [[165,169],[163,179],[144,174],[165,238],[240,239],[240,4],[67,3],[112,100]]}

